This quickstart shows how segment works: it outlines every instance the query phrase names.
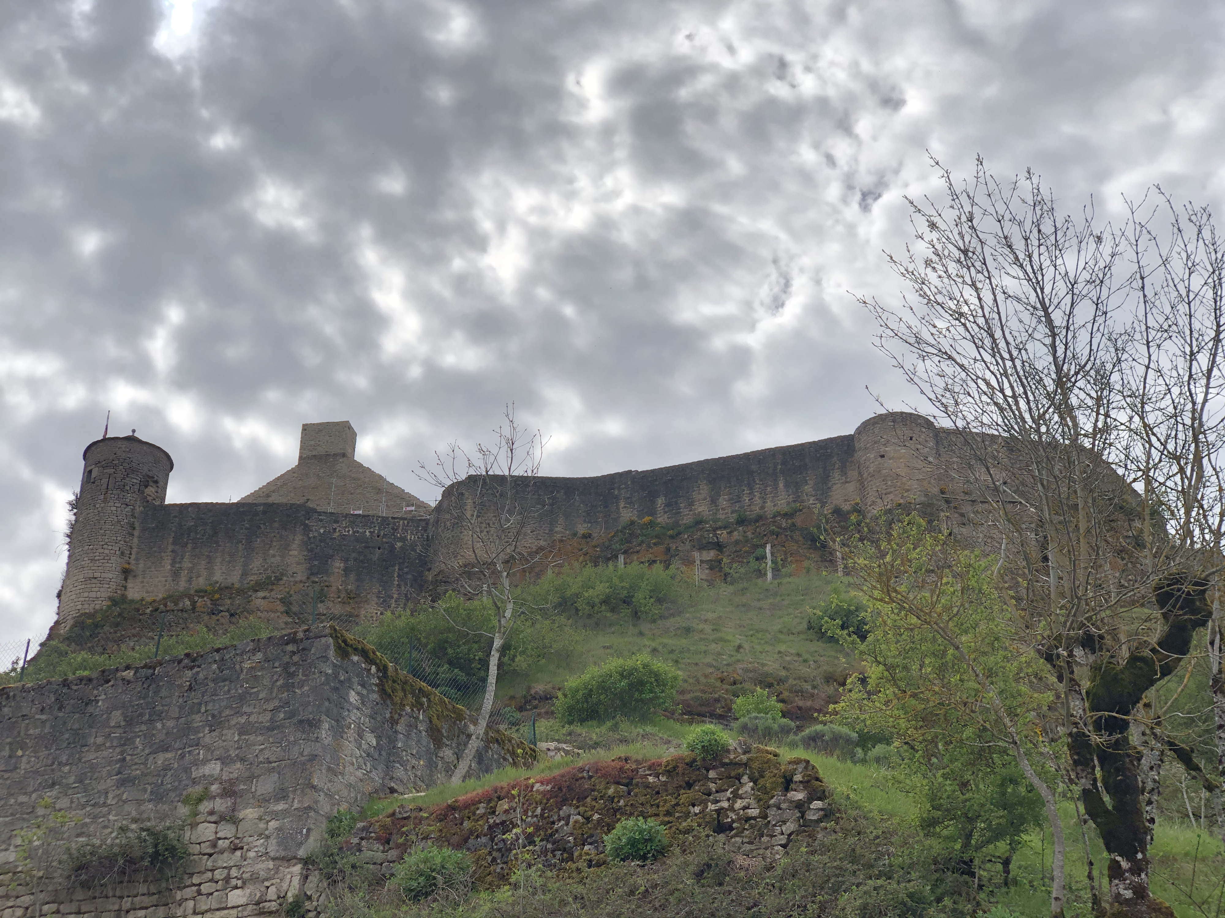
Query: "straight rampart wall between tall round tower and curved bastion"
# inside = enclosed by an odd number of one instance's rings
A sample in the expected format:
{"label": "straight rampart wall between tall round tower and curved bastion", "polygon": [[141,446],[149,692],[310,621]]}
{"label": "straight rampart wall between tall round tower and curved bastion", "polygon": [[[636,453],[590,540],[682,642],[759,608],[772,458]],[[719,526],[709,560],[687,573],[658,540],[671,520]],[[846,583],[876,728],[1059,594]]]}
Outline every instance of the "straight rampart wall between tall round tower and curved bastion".
{"label": "straight rampart wall between tall round tower and curved bastion", "polygon": [[163,596],[267,578],[328,584],[371,608],[420,588],[425,518],[326,513],[303,504],[185,503],[138,519],[126,595]]}

